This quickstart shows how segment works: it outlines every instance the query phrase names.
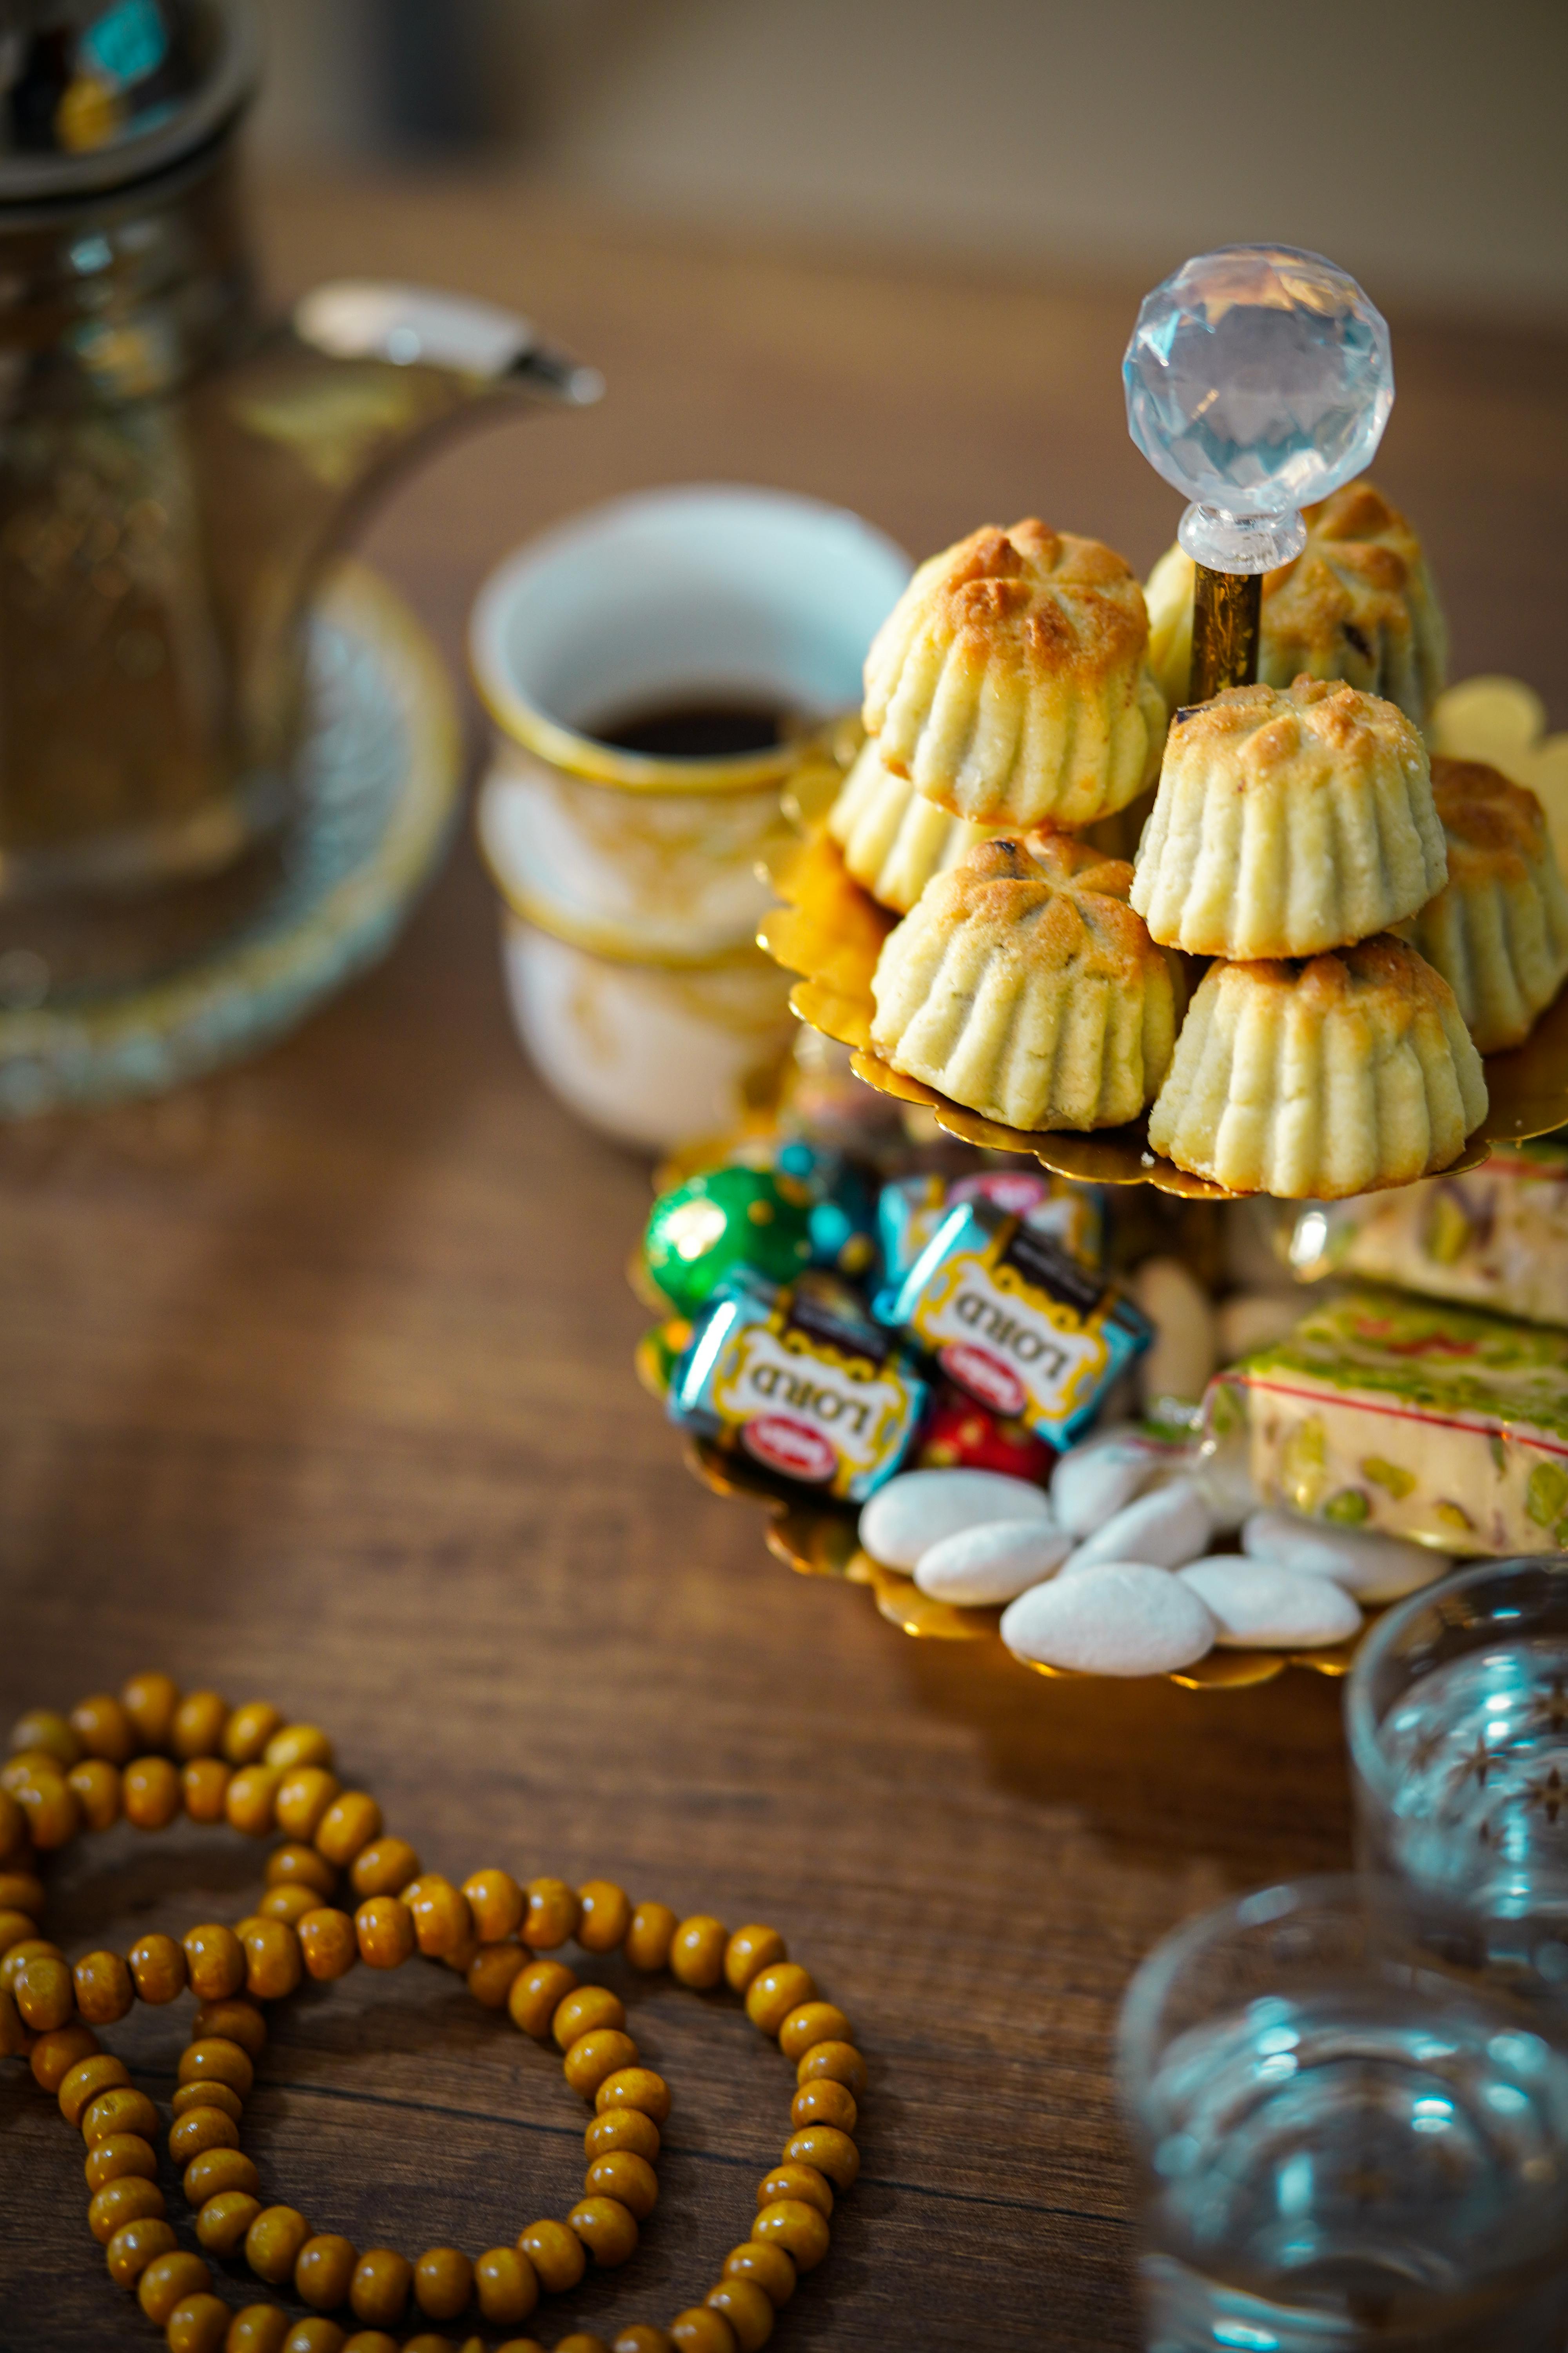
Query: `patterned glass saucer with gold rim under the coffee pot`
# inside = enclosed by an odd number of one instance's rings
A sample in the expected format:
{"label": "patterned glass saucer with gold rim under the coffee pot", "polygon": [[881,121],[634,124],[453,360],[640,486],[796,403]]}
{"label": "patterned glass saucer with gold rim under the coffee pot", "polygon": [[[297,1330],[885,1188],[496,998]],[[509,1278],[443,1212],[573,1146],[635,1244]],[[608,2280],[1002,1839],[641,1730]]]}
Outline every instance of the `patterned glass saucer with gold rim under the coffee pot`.
{"label": "patterned glass saucer with gold rim under the coffee pot", "polygon": [[259,1052],[390,948],[456,819],[451,682],[355,562],[322,586],[308,654],[287,826],[221,875],[87,915],[0,904],[0,1118],[158,1094]]}

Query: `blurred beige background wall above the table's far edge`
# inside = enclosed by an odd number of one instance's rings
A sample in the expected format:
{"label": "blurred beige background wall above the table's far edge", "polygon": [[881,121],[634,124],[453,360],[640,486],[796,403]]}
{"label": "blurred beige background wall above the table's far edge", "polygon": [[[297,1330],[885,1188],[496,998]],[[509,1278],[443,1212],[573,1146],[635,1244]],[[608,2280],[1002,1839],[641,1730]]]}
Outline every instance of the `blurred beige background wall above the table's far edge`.
{"label": "blurred beige background wall above the table's far edge", "polygon": [[604,212],[1159,278],[1328,252],[1568,322],[1568,0],[263,0],[261,153],[487,162]]}

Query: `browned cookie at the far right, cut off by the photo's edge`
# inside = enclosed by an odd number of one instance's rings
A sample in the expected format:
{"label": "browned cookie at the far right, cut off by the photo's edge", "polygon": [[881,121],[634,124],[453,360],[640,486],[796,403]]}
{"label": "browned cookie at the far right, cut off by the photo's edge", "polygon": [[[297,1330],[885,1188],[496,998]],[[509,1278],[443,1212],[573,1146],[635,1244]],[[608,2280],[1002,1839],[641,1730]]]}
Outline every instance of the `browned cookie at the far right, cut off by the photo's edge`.
{"label": "browned cookie at the far right, cut off by the photo's edge", "polygon": [[1521,1045],[1568,974],[1568,887],[1547,816],[1481,760],[1434,760],[1448,882],[1399,925],[1453,988],[1479,1054]]}

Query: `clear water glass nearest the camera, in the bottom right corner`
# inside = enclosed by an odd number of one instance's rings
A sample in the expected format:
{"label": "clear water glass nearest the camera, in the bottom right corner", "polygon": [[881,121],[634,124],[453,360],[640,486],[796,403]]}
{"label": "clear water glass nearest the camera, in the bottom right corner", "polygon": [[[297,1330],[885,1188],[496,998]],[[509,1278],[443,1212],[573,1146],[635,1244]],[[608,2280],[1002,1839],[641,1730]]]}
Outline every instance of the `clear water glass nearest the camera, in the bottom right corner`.
{"label": "clear water glass nearest the camera, in the bottom right corner", "polygon": [[1206,1913],[1138,1969],[1119,2085],[1150,2353],[1561,2353],[1568,2021],[1375,1878]]}

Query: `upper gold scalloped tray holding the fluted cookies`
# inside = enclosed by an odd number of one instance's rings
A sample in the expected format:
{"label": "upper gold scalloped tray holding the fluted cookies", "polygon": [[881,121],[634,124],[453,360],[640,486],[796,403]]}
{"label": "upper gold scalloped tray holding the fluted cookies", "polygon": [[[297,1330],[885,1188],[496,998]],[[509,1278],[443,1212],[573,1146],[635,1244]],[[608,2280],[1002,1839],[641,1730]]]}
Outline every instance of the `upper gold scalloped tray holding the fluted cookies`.
{"label": "upper gold scalloped tray holding the fluted cookies", "polygon": [[[1462,732],[1465,755],[1493,758],[1507,751],[1519,767],[1516,744],[1505,741],[1509,720],[1516,722],[1519,696],[1528,696],[1528,689],[1516,680],[1469,680],[1450,687],[1434,725],[1439,748],[1448,748],[1443,706],[1450,711],[1458,706],[1465,727],[1455,727],[1453,734]],[[1495,729],[1488,729],[1490,718],[1497,720]],[[785,972],[802,974],[790,991],[799,1019],[846,1045],[856,1075],[879,1094],[922,1104],[936,1115],[938,1127],[980,1151],[1032,1153],[1053,1176],[1077,1176],[1084,1184],[1152,1184],[1159,1193],[1185,1200],[1239,1200],[1241,1195],[1206,1176],[1190,1176],[1152,1153],[1145,1120],[1088,1134],[1001,1127],[999,1120],[966,1111],[922,1080],[905,1078],[872,1049],[870,1026],[877,1009],[872,974],[898,915],[851,880],[839,845],[825,831],[827,807],[856,741],[853,732],[839,732],[825,755],[802,772],[790,795],[799,833],[785,838],[766,864],[766,875],[785,904],[764,918],[757,939]],[[1497,1146],[1528,1144],[1530,1136],[1552,1134],[1568,1120],[1568,988],[1521,1047],[1486,1056],[1486,1120],[1472,1132],[1460,1158],[1443,1169],[1446,1176],[1479,1167]]]}

